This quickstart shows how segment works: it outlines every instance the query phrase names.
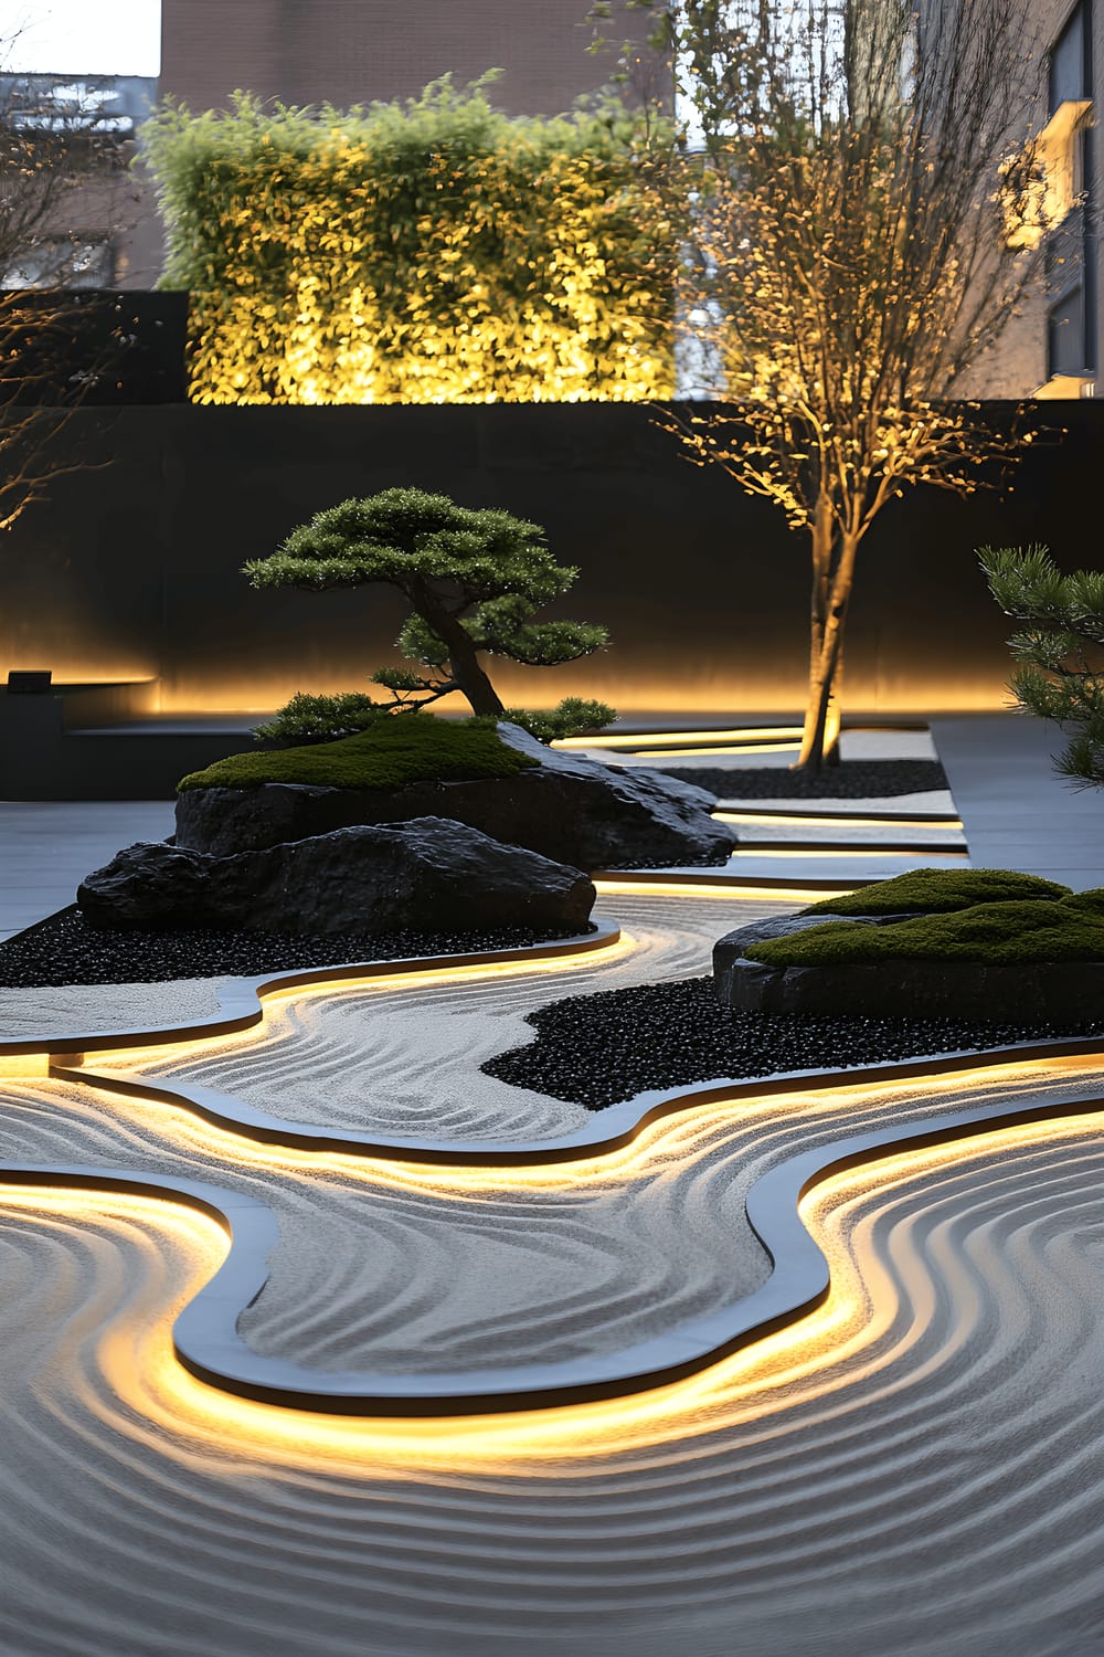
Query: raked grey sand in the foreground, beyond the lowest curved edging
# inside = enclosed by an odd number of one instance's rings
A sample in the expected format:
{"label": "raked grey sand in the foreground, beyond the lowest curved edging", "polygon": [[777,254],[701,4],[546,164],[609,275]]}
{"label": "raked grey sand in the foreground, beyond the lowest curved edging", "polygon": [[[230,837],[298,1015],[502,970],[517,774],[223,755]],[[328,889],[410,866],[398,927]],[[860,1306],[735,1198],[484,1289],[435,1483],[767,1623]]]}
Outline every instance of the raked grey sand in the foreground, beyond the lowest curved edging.
{"label": "raked grey sand in the foreground, beyond the lowest curved edging", "polygon": [[836,1289],[799,1339],[636,1408],[444,1437],[220,1412],[137,1334],[164,1339],[214,1228],[12,1203],[8,1649],[1087,1654],[1099,1127],[841,1176],[808,1211]]}

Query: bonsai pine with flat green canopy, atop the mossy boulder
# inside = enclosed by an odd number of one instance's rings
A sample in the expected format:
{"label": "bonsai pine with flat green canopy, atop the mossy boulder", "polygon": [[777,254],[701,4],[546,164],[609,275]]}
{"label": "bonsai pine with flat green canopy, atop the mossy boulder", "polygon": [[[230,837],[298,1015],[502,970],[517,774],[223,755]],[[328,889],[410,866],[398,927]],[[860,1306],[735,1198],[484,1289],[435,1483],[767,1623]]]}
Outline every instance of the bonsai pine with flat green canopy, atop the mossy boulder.
{"label": "bonsai pine with flat green canopy, atop the mossy boulder", "polygon": [[[301,719],[313,708],[323,714],[323,724],[329,709],[351,729],[381,713],[424,708],[452,691],[467,696],[472,713],[502,716],[506,709],[480,661],[483,653],[553,668],[589,656],[609,636],[589,621],[533,620],[579,573],[554,562],[536,524],[493,507],[460,507],[422,489],[386,489],[366,500],[328,507],[293,530],[276,552],[245,563],[243,573],[257,588],[321,592],[381,582],[407,598],[410,615],[397,646],[417,669],[381,668],[372,674],[376,684],[392,693],[391,703],[346,694],[300,696],[288,704],[288,714],[298,711]],[[578,699],[563,703],[559,714],[574,716],[578,729],[614,717],[601,703]],[[276,734],[273,726],[263,729]],[[329,736],[333,726],[311,734]]]}

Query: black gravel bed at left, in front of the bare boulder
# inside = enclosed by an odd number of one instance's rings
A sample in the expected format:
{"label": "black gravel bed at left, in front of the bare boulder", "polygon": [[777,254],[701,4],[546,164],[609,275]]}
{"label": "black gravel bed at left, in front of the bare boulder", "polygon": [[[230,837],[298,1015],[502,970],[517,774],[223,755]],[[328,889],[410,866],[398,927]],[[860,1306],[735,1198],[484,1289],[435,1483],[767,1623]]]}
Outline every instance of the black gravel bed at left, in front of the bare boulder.
{"label": "black gravel bed at left, in front of the bare boulder", "polygon": [[[594,931],[594,926],[588,926]],[[402,961],[424,954],[475,954],[574,938],[546,926],[467,933],[341,933],[308,938],[262,931],[99,931],[76,906],[0,944],[0,988],[50,984],[161,984],[172,978],[253,978],[262,973]]]}

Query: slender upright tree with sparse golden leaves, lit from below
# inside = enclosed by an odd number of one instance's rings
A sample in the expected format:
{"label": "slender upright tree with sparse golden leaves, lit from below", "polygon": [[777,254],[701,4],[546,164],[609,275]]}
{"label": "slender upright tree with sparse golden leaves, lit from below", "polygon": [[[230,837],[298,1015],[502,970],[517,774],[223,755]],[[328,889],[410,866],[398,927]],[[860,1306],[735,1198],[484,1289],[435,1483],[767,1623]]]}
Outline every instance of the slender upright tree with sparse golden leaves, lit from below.
{"label": "slender upright tree with sparse golden leaves, lit from below", "polygon": [[1033,239],[1008,234],[1003,184],[1039,75],[1031,5],[639,3],[682,76],[672,176],[690,179],[695,235],[680,308],[695,376],[725,398],[670,406],[664,424],[809,537],[796,764],[816,771],[838,754],[874,519],[910,484],[968,494],[1016,452],[948,399],[1038,265]]}

